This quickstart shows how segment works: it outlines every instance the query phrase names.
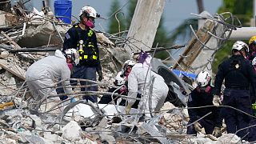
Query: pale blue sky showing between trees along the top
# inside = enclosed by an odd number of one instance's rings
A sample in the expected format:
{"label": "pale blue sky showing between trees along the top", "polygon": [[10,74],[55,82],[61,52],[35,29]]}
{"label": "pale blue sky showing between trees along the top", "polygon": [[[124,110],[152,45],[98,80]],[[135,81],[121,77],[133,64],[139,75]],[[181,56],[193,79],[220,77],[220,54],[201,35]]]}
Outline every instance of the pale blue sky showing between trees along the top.
{"label": "pale blue sky showing between trees along the top", "polygon": [[[125,5],[129,0],[119,0],[122,5]],[[103,18],[107,18],[110,12],[110,5],[113,0],[75,0],[72,1],[72,14],[78,17],[79,10],[82,6],[93,6],[97,10],[98,14],[101,14]],[[42,0],[32,1],[36,9],[41,10]],[[210,14],[215,14],[218,7],[222,5],[222,0],[203,0],[205,10]],[[126,10],[128,5],[123,7],[123,11]],[[50,7],[54,11],[54,0],[50,0]],[[198,7],[196,0],[166,0],[166,5],[164,8],[164,26],[168,31],[174,30],[180,23],[182,23],[186,18],[191,18],[194,16],[191,13],[198,14]],[[98,19],[103,29],[106,29],[108,24],[107,20]],[[96,30],[102,30],[101,27],[97,26]]]}

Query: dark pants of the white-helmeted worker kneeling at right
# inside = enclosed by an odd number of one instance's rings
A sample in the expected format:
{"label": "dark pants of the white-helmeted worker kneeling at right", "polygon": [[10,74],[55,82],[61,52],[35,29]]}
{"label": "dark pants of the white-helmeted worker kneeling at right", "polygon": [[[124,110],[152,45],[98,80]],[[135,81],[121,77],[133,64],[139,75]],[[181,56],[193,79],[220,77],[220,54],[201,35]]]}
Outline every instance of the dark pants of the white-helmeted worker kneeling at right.
{"label": "dark pants of the white-helmeted worker kneeling at right", "polygon": [[[192,123],[191,121],[188,122],[188,125]],[[200,125],[205,128],[206,134],[212,134],[214,131],[214,121],[210,119],[201,119],[198,121]],[[197,134],[197,131],[194,130],[194,125],[188,126],[186,130],[186,134]]]}

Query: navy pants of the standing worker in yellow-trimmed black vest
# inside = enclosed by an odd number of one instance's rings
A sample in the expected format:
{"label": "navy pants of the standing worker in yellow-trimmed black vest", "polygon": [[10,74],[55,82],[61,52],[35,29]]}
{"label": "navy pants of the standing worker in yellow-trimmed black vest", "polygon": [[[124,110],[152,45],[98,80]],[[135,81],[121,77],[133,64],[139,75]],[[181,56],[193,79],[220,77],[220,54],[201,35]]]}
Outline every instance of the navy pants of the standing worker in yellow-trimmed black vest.
{"label": "navy pants of the standing worker in yellow-trimmed black vest", "polygon": [[[87,67],[87,66],[75,66],[74,73],[71,75],[71,78],[82,78],[82,79],[89,79],[96,81],[96,67]],[[77,82],[70,81],[71,85],[77,85]],[[94,85],[94,82],[86,82],[80,81],[81,86],[86,85]],[[89,87],[82,87],[81,91],[98,91],[98,86],[89,86]],[[85,95],[83,99],[87,101],[90,100],[91,102],[98,102],[97,95]]]}

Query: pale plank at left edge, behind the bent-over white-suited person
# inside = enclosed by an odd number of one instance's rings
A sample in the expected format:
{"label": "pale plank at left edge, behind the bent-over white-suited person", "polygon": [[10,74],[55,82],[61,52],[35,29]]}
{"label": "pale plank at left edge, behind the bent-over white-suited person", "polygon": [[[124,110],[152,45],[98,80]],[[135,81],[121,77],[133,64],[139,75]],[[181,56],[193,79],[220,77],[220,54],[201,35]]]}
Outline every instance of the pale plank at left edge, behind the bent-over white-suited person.
{"label": "pale plank at left edge, behind the bent-over white-suited person", "polygon": [[0,59],[0,66],[9,71],[11,74],[14,74],[15,76],[17,76],[18,78],[21,78],[22,80],[26,80],[25,78],[25,74],[26,74],[26,70],[23,70],[20,66],[7,62],[7,60],[5,59]]}

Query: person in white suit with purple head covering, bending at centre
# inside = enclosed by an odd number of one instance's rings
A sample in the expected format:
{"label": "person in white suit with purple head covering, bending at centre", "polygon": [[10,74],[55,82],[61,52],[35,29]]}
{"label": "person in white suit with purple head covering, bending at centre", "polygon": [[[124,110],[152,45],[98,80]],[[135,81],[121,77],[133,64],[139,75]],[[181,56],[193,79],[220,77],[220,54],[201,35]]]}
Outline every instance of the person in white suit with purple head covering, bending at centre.
{"label": "person in white suit with purple head covering, bending at centre", "polygon": [[[128,77],[128,96],[136,98],[138,93],[142,94],[138,109],[145,110],[146,117],[151,117],[150,112],[154,115],[161,109],[169,91],[162,76],[151,70],[151,59],[149,54],[142,52]],[[126,114],[130,113],[134,102],[134,99],[128,100]]]}

